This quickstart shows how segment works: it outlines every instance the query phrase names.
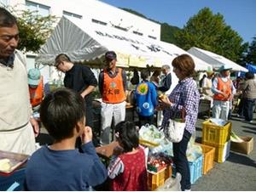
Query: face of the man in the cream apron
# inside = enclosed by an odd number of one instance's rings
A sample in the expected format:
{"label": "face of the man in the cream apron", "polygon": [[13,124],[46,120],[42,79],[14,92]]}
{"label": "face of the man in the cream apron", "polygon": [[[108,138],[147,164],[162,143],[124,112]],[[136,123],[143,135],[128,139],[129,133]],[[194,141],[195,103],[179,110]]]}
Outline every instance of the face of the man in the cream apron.
{"label": "face of the man in the cream apron", "polygon": [[0,27],[0,58],[8,58],[14,54],[19,42],[19,30],[17,25]]}

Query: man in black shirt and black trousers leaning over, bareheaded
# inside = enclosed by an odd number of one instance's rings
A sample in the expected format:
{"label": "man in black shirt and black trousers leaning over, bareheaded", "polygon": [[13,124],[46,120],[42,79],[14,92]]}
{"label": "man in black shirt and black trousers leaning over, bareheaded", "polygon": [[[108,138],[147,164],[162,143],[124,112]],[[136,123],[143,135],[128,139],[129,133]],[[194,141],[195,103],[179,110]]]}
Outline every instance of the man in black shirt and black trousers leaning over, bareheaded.
{"label": "man in black shirt and black trousers leaning over, bareheaded", "polygon": [[84,98],[86,126],[93,128],[93,98],[91,93],[97,86],[94,73],[86,65],[74,65],[67,54],[59,54],[55,57],[55,67],[65,73],[64,86],[80,93]]}

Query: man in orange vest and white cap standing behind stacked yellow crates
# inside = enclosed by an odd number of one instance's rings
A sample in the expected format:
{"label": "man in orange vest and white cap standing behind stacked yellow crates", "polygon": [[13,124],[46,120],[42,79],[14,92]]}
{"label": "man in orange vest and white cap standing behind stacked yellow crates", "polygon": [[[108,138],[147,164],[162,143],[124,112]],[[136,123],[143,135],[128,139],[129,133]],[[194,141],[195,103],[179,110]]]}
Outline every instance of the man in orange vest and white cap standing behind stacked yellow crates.
{"label": "man in orange vest and white cap standing behind stacked yellow crates", "polygon": [[236,88],[230,80],[231,69],[228,65],[222,65],[218,69],[219,76],[216,76],[212,82],[212,93],[214,94],[212,116],[224,121],[228,120],[231,101],[236,93]]}

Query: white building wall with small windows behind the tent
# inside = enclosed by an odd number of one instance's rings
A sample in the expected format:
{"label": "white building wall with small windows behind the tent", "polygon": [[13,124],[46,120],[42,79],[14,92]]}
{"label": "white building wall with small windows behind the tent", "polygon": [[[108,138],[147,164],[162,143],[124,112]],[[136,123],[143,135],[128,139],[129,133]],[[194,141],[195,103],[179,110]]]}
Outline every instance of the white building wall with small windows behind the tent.
{"label": "white building wall with small windows behind the tent", "polygon": [[26,2],[38,3],[49,7],[49,14],[54,14],[61,18],[63,11],[70,14],[82,16],[84,22],[91,23],[93,20],[99,20],[107,25],[116,25],[127,29],[127,32],[134,31],[142,33],[143,37],[155,37],[160,40],[160,25],[143,19],[135,14],[130,14],[120,8],[113,7],[107,3],[98,0],[1,0],[10,5],[18,5],[25,8]]}

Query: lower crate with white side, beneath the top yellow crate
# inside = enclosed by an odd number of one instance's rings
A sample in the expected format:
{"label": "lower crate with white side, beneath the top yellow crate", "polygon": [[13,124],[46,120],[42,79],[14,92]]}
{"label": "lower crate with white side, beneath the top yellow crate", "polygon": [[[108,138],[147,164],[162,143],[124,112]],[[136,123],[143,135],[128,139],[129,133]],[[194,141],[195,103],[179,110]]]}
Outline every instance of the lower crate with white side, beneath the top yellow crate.
{"label": "lower crate with white side, beneath the top yellow crate", "polygon": [[210,145],[212,147],[215,147],[215,155],[214,155],[214,161],[217,162],[224,162],[226,159],[230,156],[230,141],[226,142],[225,144],[211,144],[207,142],[203,142],[203,144]]}

